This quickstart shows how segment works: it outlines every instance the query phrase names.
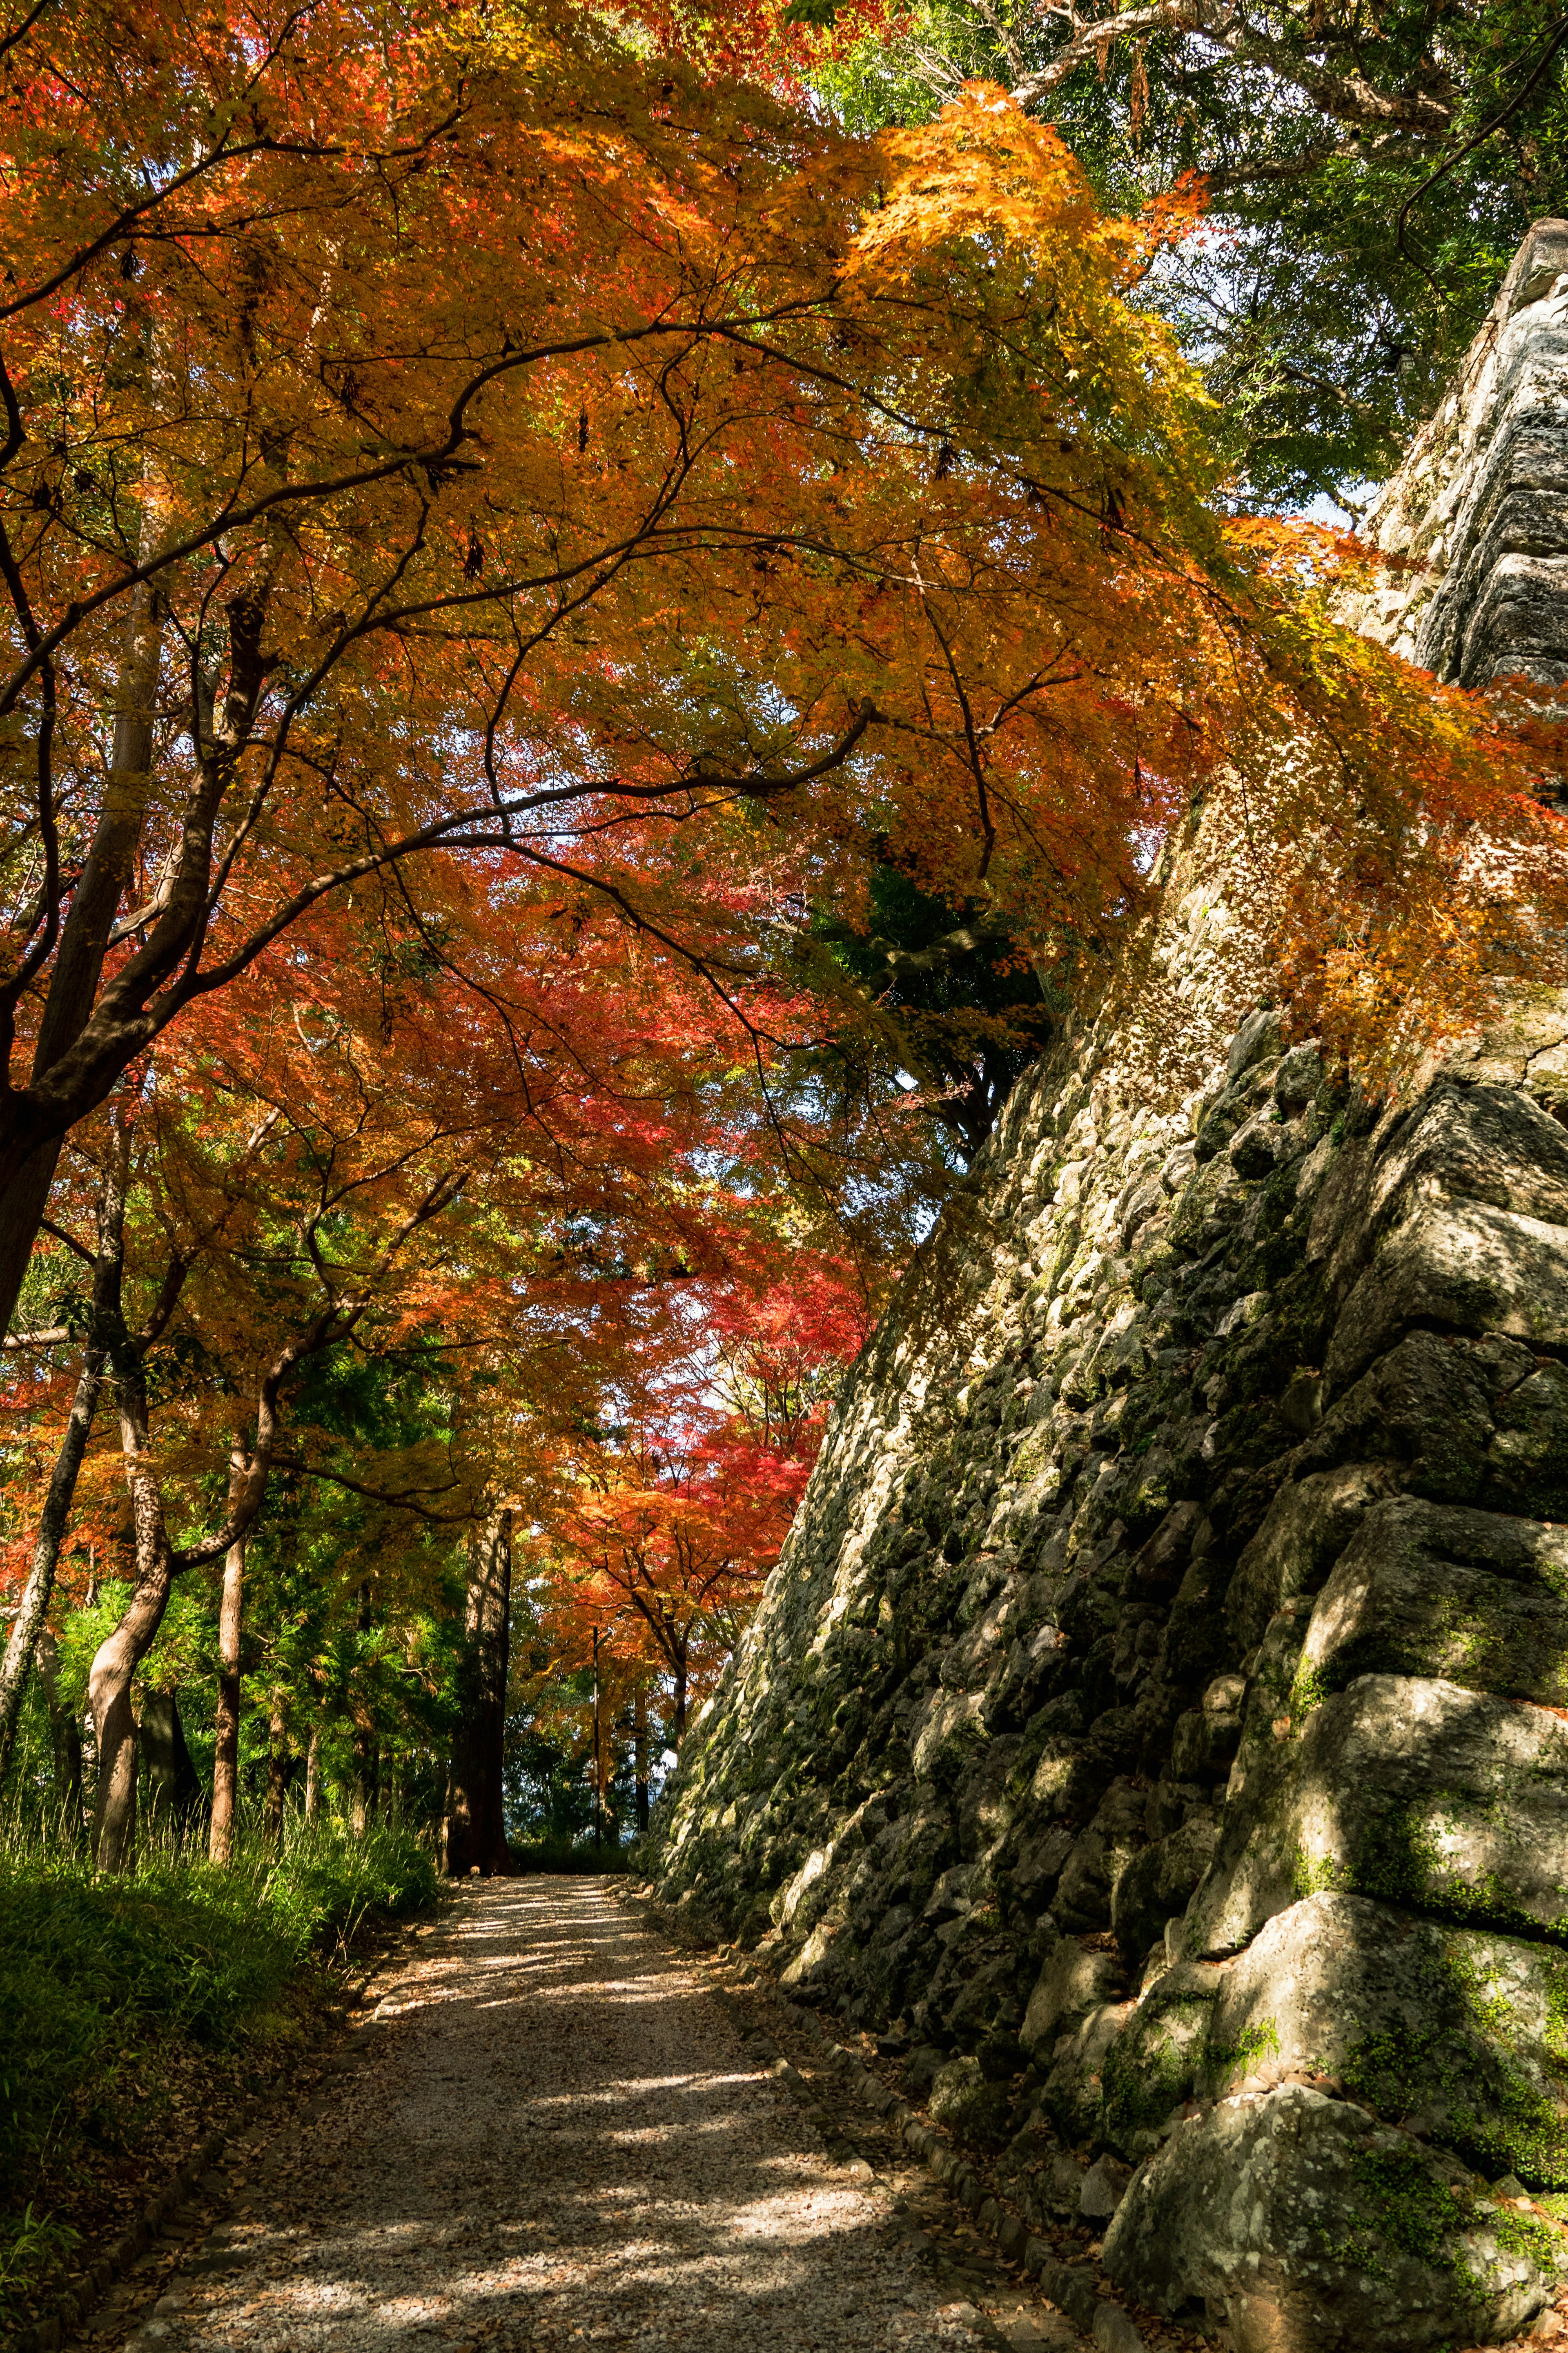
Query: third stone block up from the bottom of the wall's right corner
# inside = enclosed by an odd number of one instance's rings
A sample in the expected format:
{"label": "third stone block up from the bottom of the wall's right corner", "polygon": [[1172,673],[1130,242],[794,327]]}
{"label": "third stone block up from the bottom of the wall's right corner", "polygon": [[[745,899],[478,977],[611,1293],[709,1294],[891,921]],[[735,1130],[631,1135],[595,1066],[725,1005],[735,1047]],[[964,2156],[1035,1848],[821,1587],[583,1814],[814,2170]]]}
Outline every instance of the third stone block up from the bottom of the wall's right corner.
{"label": "third stone block up from the bottom of the wall's right corner", "polygon": [[1187,1913],[1237,1953],[1319,1887],[1568,1941],[1568,1722],[1455,1682],[1363,1675],[1302,1720],[1225,1809]]}

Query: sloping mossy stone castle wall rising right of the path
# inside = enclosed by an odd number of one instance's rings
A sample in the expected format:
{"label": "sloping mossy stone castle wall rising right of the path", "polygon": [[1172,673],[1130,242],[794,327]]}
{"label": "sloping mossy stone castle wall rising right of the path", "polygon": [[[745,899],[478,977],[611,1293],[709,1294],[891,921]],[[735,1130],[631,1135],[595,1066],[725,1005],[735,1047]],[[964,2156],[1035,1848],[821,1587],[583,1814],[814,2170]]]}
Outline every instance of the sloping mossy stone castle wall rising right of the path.
{"label": "sloping mossy stone castle wall rising right of the path", "polygon": [[[1497,588],[1559,249],[1448,471],[1427,435],[1460,671],[1568,649],[1544,572]],[[1568,414],[1530,431],[1568,489]],[[1215,1024],[1222,922],[1199,838],[1159,960]],[[1568,1007],[1396,1104],[1269,1009],[1180,1101],[1133,1068],[1103,1026],[1016,1092],[651,1866],[919,2045],[1037,2226],[1095,2155],[1133,2301],[1239,2353],[1497,2341],[1568,2245]]]}

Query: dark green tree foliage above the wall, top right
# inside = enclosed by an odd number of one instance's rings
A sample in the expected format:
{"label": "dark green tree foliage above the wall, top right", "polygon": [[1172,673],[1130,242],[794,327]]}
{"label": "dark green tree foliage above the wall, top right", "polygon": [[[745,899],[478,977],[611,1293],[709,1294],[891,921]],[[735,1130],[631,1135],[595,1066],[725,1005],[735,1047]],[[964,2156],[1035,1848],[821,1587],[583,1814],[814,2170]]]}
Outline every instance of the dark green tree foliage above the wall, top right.
{"label": "dark green tree foliage above the wall, top right", "polygon": [[[1190,31],[1107,42],[1034,101],[1117,209],[1206,176],[1218,233],[1145,299],[1206,369],[1244,501],[1354,499],[1387,475],[1528,224],[1568,209],[1559,28],[1552,0],[1262,0],[1232,49]],[[1063,14],[1023,0],[922,0],[905,35],[863,40],[818,87],[856,129],[922,122],[966,75],[1027,87],[1067,40]],[[1392,118],[1359,118],[1347,82]],[[1425,127],[1406,101],[1429,101]]]}

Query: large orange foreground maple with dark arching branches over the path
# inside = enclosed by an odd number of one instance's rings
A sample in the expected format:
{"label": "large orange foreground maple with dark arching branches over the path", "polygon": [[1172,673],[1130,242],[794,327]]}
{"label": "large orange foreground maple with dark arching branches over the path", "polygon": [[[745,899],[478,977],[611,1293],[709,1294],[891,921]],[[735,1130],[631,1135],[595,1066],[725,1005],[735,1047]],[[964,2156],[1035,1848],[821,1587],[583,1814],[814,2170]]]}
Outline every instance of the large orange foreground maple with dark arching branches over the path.
{"label": "large orange foreground maple with dark arching branches over the path", "polygon": [[1192,191],[548,9],[80,7],[7,68],[7,1313],[68,1127],[367,878],[440,934],[503,861],[738,1014],[872,831],[1046,962],[1114,929],[1267,671],[1121,299]]}

